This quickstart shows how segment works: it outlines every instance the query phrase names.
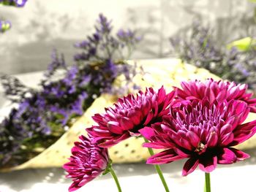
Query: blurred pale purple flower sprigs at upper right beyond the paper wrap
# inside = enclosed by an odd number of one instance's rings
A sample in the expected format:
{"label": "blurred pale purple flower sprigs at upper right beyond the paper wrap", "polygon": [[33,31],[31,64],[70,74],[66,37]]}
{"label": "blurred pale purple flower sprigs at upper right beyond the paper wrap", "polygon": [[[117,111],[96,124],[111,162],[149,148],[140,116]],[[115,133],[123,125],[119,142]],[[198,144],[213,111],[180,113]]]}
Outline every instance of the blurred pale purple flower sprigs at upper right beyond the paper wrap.
{"label": "blurred pale purple flower sprigs at upper right beyond the paper wrap", "polygon": [[[193,23],[191,30],[184,37],[172,37],[170,42],[173,53],[183,61],[208,69],[223,79],[246,83],[250,89],[255,90],[256,50],[254,46],[243,45],[245,48],[240,49],[235,45],[219,45],[218,39],[214,37],[214,31],[201,26],[199,22]],[[248,45],[252,42],[253,39],[248,42]]]}

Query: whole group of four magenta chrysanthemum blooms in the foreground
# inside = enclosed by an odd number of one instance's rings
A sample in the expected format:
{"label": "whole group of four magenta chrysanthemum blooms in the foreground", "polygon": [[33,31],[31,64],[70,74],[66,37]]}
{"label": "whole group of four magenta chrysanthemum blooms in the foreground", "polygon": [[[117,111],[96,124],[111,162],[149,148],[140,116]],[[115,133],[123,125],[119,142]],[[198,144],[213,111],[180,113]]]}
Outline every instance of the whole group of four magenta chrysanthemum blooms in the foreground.
{"label": "whole group of four magenta chrysanthemum blooms in the foreground", "polygon": [[[183,176],[192,173],[197,166],[209,173],[217,164],[233,164],[249,158],[234,146],[256,133],[256,120],[244,123],[249,112],[255,112],[255,106],[256,99],[246,93],[246,85],[194,80],[181,82],[181,88],[173,88],[170,93],[163,87],[157,92],[148,88],[145,93],[140,91],[136,96],[119,99],[114,107],[105,109],[105,113],[94,115],[97,126],[86,131],[90,142],[101,150],[128,137],[144,137],[149,142],[143,147],[162,150],[151,155],[147,164],[167,164],[188,158]],[[83,140],[87,141],[85,137]],[[92,175],[76,168],[83,166],[84,157],[89,156],[94,147],[89,146],[83,153],[83,147],[78,149],[75,145],[73,150],[80,153],[72,153],[75,157],[72,156],[64,168],[73,178],[72,186],[80,188],[86,184],[83,178],[92,180],[98,172]],[[97,157],[97,161],[105,160]],[[85,167],[91,170],[95,165]]]}

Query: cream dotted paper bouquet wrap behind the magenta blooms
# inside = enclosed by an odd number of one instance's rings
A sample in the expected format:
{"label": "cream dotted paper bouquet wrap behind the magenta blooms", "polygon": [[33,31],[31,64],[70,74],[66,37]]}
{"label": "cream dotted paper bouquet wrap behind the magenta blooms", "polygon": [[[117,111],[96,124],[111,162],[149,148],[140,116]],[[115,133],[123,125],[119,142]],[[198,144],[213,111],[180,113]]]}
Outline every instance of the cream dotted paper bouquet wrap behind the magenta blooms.
{"label": "cream dotted paper bouquet wrap behind the magenta blooms", "polygon": [[[129,64],[137,64],[142,66],[145,74],[135,76],[134,81],[142,89],[146,87],[160,88],[165,86],[167,91],[172,89],[172,86],[180,86],[183,80],[206,80],[213,78],[219,80],[219,77],[211,74],[206,69],[198,69],[189,64],[182,64],[178,59],[151,59],[128,61]],[[122,77],[118,77],[122,78]],[[116,83],[118,84],[118,79]],[[121,85],[119,85],[121,86]],[[95,113],[104,112],[105,107],[112,106],[117,99],[116,96],[102,95],[94,101],[82,117],[78,118],[71,128],[53,145],[48,147],[42,153],[27,161],[24,164],[15,166],[9,170],[27,169],[27,168],[45,168],[45,167],[60,167],[67,162],[67,158],[71,155],[73,143],[78,141],[78,136],[85,135],[85,128],[94,124],[91,116]],[[255,114],[249,114],[249,119],[256,119]],[[109,153],[113,163],[131,163],[145,161],[149,157],[147,148],[143,148],[143,138],[131,137],[123,142],[110,147]],[[256,138],[252,137],[243,145],[239,145],[241,149],[256,147]]]}

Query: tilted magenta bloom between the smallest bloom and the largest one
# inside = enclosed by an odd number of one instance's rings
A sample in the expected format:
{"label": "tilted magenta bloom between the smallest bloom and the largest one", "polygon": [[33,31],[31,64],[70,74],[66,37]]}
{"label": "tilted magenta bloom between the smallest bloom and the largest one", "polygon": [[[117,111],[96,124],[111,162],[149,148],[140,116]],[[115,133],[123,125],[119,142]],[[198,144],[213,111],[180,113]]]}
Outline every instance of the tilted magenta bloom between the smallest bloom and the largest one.
{"label": "tilted magenta bloom between the smallest bloom and the largest one", "polygon": [[100,147],[110,147],[128,137],[139,136],[140,128],[159,122],[163,115],[167,115],[174,96],[174,91],[166,94],[163,87],[158,92],[147,88],[145,93],[140,91],[137,96],[129,94],[119,99],[114,107],[105,109],[105,114],[94,115],[98,126],[86,131]]}

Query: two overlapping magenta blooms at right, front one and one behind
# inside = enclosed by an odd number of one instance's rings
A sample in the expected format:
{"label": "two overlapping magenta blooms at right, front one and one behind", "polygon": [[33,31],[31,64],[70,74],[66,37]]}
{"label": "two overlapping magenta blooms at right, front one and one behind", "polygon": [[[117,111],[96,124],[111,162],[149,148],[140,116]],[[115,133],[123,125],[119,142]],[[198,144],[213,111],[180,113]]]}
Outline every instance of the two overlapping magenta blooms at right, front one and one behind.
{"label": "two overlapping magenta blooms at right, front one and one behind", "polygon": [[245,85],[207,80],[183,82],[176,88],[176,101],[161,123],[140,133],[151,143],[144,147],[165,149],[148,158],[148,164],[166,164],[189,158],[182,174],[199,165],[204,172],[217,164],[233,164],[249,155],[233,148],[256,132],[256,120],[244,123],[256,100],[245,93]]}

